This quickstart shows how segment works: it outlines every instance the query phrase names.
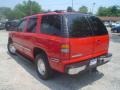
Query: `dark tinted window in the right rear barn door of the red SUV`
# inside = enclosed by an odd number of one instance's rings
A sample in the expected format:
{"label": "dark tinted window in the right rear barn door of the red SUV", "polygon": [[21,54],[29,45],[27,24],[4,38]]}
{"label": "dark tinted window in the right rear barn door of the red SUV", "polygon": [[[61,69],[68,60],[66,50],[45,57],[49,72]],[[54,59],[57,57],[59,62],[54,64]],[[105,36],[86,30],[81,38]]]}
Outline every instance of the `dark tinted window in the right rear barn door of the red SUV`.
{"label": "dark tinted window in the right rear barn door of the red SUV", "polygon": [[91,27],[93,28],[95,35],[108,34],[106,27],[97,17],[91,16],[88,17],[88,20],[90,21]]}

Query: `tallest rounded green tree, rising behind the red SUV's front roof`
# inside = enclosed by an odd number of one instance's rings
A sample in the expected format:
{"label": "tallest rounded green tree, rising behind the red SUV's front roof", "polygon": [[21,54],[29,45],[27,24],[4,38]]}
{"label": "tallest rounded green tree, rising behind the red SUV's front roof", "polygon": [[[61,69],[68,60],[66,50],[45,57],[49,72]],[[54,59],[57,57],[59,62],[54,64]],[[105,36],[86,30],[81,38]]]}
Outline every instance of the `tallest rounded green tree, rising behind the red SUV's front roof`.
{"label": "tallest rounded green tree, rising behind the red SUV's front roof", "polygon": [[42,12],[41,6],[35,1],[23,1],[22,4],[17,4],[14,8],[16,18],[22,18],[31,14]]}

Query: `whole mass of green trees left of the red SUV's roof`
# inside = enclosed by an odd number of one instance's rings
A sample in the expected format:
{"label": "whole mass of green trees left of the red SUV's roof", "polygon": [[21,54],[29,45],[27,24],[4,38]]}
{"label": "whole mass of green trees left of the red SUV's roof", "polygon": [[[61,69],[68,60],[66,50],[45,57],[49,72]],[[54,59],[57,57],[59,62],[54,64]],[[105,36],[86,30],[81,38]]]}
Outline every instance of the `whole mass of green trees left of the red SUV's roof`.
{"label": "whole mass of green trees left of the red SUV's roof", "polygon": [[0,16],[5,16],[5,18],[12,19],[20,19],[25,16],[36,14],[42,12],[41,6],[35,1],[23,1],[21,4],[17,4],[14,9],[8,7],[0,8]]}

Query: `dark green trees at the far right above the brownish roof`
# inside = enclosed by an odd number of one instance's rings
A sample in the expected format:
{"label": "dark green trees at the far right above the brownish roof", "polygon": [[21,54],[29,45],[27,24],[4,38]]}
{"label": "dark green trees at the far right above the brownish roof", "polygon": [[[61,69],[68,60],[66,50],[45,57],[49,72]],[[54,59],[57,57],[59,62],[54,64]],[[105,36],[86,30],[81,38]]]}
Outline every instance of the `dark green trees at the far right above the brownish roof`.
{"label": "dark green trees at the far right above the brownish roof", "polygon": [[111,6],[111,7],[99,7],[98,16],[120,16],[120,8],[119,6]]}

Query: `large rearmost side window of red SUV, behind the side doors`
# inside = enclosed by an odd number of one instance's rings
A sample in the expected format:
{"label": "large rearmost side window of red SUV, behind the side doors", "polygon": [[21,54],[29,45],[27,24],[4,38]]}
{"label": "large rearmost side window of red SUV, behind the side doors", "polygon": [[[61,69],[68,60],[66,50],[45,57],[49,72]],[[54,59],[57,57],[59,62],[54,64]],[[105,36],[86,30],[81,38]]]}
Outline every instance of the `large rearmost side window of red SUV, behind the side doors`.
{"label": "large rearmost side window of red SUV, behind the side doors", "polygon": [[48,15],[42,17],[41,33],[60,36],[61,34],[61,16]]}

